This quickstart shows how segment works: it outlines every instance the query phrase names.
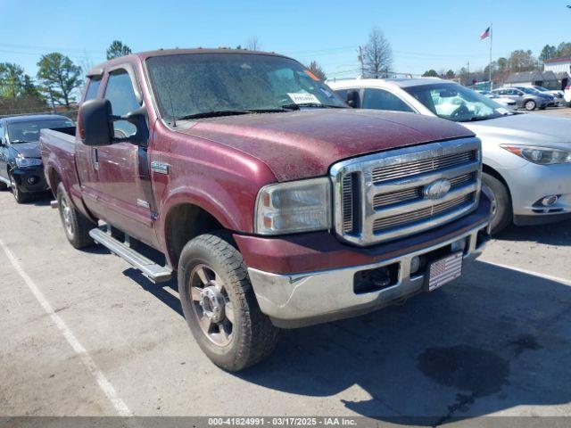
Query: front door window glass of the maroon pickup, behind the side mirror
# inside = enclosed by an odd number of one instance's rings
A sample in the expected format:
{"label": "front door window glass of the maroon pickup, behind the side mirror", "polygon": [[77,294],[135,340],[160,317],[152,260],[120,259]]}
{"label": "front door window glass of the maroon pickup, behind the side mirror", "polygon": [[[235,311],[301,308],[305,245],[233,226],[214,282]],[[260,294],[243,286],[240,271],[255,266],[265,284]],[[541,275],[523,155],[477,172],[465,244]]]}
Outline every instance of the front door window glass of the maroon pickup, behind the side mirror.
{"label": "front door window glass of the maroon pickup, behind the side mirror", "polygon": [[[140,107],[133,82],[126,70],[116,70],[109,75],[104,97],[111,102],[112,114],[115,116],[122,116]],[[127,120],[113,123],[117,137],[132,136],[137,132],[137,127]]]}

